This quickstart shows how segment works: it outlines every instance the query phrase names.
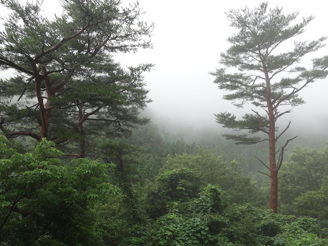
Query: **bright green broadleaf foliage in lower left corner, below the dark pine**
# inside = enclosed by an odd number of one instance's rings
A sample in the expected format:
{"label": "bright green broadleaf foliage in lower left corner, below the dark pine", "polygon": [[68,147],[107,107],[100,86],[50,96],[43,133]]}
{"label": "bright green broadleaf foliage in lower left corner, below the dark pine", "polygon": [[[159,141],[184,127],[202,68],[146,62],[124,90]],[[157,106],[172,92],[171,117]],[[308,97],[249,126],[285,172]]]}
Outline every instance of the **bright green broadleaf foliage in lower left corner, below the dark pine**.
{"label": "bright green broadleaf foliage in lower left corner, below the dark pine", "polygon": [[0,136],[2,245],[101,245],[95,204],[120,196],[109,181],[111,165],[87,159],[64,164],[45,138],[32,153],[13,147]]}

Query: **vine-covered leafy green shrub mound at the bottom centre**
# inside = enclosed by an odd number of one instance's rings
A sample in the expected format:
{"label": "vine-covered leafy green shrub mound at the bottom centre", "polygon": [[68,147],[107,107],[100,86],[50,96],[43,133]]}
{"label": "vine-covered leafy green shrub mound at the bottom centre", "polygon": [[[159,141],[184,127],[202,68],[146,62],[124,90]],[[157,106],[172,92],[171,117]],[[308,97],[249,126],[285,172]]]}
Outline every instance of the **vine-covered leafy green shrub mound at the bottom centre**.
{"label": "vine-covered leafy green shrub mound at the bottom centre", "polygon": [[208,185],[198,198],[189,202],[172,203],[169,213],[155,222],[153,245],[212,245],[209,215],[222,212],[226,206],[222,190],[213,185]]}

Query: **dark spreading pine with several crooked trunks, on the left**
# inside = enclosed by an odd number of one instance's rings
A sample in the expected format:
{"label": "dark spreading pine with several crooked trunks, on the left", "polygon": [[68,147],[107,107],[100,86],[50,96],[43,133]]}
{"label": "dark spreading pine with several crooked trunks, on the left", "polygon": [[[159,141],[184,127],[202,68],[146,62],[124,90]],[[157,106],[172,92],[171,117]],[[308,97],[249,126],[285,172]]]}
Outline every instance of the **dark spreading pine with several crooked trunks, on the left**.
{"label": "dark spreading pine with several crooked trunks, on the left", "polygon": [[[61,0],[63,14],[48,19],[39,1],[1,1],[11,10],[0,32],[0,130],[7,137],[73,140],[84,157],[94,135],[129,134],[148,118],[142,73],[151,64],[122,69],[117,52],[151,48],[153,25],[139,20],[138,3]],[[112,136],[113,137],[113,136]]]}

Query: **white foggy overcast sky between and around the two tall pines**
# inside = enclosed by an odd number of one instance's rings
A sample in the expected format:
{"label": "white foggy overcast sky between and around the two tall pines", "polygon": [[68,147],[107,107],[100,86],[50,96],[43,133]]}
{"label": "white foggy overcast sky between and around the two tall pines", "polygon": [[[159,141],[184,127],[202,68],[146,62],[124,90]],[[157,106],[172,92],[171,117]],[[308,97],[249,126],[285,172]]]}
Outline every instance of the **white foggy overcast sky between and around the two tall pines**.
{"label": "white foggy overcast sky between and around the two tall pines", "polygon": [[[226,39],[235,29],[229,27],[224,12],[230,9],[258,6],[259,1],[214,1],[214,0],[139,0],[141,19],[155,25],[152,43],[154,48],[140,50],[136,54],[119,54],[117,59],[123,66],[140,63],[155,64],[155,69],[145,74],[145,82],[151,90],[149,97],[153,102],[146,113],[152,113],[154,121],[169,120],[177,125],[195,129],[216,126],[214,113],[242,111],[222,100],[224,92],[213,84],[214,77],[209,71],[220,67],[220,52],[229,47]],[[123,0],[123,4],[134,3]],[[59,4],[58,4],[59,5]],[[304,40],[316,39],[328,35],[328,4],[324,1],[270,1],[271,7],[284,7],[285,13],[299,10],[299,16],[313,14],[316,18],[302,35]],[[53,1],[44,0],[44,9],[56,11]],[[315,56],[328,55],[328,48],[323,48]],[[314,56],[314,57],[315,57]],[[311,57],[305,57],[304,60]],[[292,126],[321,124],[326,116],[326,93],[328,79],[317,81],[301,93],[306,105],[295,108],[292,112],[302,120],[292,122]],[[291,118],[286,115],[285,120]]]}

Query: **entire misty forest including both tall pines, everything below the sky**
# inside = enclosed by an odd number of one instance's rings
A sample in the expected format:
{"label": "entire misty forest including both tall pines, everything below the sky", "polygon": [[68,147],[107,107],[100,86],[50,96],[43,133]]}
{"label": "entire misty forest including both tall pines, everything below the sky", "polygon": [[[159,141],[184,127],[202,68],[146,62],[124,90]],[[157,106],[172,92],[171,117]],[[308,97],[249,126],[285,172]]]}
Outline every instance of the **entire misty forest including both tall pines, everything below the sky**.
{"label": "entire misty forest including both tall pines, everything below the sky", "polygon": [[0,246],[328,245],[328,135],[279,125],[328,75],[328,54],[301,63],[325,36],[279,53],[313,16],[226,13],[236,32],[210,74],[252,108],[213,112],[227,130],[192,138],[144,111],[154,65],[115,59],[152,48],[137,2],[61,0],[53,19],[42,2],[0,2]]}

